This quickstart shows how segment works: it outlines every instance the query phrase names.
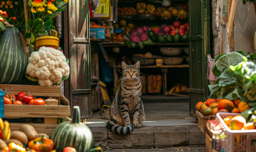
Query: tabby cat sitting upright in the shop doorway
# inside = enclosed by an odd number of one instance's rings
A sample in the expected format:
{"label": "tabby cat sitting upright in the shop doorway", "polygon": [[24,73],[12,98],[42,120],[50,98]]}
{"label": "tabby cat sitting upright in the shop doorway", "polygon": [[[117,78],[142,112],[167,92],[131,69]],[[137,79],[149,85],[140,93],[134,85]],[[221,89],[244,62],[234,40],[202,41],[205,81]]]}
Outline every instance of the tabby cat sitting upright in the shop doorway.
{"label": "tabby cat sitting upright in the shop doorway", "polygon": [[145,120],[141,101],[143,78],[140,77],[140,61],[129,66],[122,62],[122,75],[119,79],[120,88],[111,105],[111,121],[108,121],[106,128],[113,133],[125,135],[132,132],[134,127],[142,127],[141,122]]}

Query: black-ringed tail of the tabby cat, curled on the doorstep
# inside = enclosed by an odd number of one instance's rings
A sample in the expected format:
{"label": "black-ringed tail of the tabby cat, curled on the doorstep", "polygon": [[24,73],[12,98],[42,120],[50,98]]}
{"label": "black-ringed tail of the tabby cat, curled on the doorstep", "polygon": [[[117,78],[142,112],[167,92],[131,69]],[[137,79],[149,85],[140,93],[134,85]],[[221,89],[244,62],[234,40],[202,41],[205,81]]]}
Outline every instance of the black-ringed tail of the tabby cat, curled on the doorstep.
{"label": "black-ringed tail of the tabby cat, curled on the doorstep", "polygon": [[111,132],[113,132],[115,134],[126,135],[126,134],[133,131],[134,126],[133,125],[129,125],[127,127],[117,126],[115,123],[113,123],[113,121],[108,121],[107,125],[106,125],[106,128],[111,130]]}

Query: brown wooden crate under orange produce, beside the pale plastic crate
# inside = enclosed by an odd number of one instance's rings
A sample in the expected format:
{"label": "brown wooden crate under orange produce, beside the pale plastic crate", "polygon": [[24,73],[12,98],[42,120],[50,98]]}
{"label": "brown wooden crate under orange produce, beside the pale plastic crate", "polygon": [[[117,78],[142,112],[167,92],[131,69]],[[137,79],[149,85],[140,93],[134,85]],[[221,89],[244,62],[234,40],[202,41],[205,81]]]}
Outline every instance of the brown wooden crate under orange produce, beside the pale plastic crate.
{"label": "brown wooden crate under orange produce, beside the pale plastic crate", "polygon": [[208,132],[207,129],[207,121],[215,119],[215,115],[209,115],[209,116],[204,116],[201,114],[201,112],[196,111],[196,114],[198,115],[198,128],[203,132],[204,134]]}

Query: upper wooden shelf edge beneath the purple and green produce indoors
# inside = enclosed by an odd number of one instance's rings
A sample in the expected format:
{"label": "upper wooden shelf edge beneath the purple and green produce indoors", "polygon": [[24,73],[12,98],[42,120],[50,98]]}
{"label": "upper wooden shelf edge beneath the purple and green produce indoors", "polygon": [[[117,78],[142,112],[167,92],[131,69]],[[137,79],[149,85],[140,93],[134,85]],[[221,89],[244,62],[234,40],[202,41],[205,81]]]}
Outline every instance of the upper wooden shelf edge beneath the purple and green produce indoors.
{"label": "upper wooden shelf edge beneath the purple and green produce indoors", "polygon": [[[105,47],[111,47],[111,46],[127,46],[125,43],[108,43],[108,42],[103,42],[103,46]],[[182,42],[177,42],[177,43],[172,43],[172,42],[167,42],[167,43],[153,43],[153,44],[147,44],[145,46],[179,46],[179,45],[186,45],[188,46],[189,43],[182,43]]]}

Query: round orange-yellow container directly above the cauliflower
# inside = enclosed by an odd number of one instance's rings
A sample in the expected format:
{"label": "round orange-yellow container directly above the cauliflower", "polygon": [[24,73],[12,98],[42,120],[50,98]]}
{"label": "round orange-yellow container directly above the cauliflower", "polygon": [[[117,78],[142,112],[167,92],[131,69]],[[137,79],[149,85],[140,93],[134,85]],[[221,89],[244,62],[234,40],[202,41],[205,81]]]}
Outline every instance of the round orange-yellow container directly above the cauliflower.
{"label": "round orange-yellow container directly above the cauliflower", "polygon": [[35,39],[35,47],[36,49],[39,49],[42,46],[58,49],[59,41],[58,37],[42,36]]}

